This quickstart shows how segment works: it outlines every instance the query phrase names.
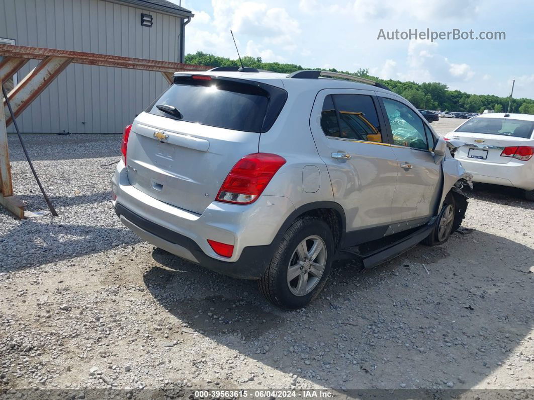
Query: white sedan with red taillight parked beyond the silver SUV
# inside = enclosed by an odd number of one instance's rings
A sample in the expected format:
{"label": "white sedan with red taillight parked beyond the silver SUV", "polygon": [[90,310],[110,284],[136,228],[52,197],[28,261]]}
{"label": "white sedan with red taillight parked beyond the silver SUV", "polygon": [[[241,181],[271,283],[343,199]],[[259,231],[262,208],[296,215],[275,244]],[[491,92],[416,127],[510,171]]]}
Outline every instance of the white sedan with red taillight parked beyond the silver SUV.
{"label": "white sedan with red taillight parked beyond the silver SUV", "polygon": [[534,200],[534,115],[480,114],[445,135],[474,182],[519,187]]}

